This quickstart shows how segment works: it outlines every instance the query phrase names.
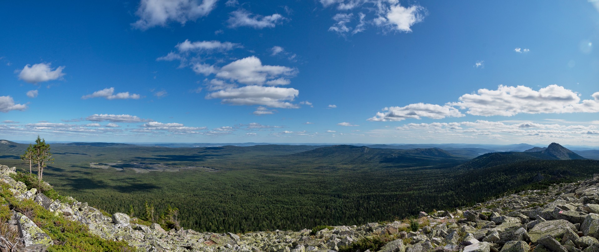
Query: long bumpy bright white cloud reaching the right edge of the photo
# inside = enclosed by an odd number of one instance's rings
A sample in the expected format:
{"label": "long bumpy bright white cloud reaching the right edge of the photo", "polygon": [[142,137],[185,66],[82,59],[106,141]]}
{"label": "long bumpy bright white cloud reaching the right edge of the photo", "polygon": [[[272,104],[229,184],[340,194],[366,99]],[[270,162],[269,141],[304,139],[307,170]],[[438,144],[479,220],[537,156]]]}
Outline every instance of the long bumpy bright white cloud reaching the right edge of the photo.
{"label": "long bumpy bright white cloud reaching the right edge of the photo", "polygon": [[525,86],[510,87],[500,85],[497,90],[486,88],[477,94],[464,94],[459,102],[447,103],[467,109],[470,115],[513,116],[518,113],[576,113],[599,112],[599,92],[593,100],[582,100],[579,94],[558,85],[549,85],[535,91]]}

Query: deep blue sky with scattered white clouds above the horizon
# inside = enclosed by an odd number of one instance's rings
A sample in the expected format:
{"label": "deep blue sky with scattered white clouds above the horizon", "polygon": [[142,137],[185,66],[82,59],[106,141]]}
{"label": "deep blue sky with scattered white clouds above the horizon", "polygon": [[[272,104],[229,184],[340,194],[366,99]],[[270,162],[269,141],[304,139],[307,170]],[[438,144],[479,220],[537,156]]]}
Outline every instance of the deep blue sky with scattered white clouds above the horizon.
{"label": "deep blue sky with scattered white clouds above the horizon", "polygon": [[2,2],[0,135],[599,146],[588,1]]}

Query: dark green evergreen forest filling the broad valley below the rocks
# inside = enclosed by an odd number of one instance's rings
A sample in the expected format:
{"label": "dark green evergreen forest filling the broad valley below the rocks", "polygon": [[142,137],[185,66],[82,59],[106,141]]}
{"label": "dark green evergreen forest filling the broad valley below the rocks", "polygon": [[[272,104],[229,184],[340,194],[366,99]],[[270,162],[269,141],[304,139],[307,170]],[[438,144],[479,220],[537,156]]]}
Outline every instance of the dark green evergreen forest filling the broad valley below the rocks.
{"label": "dark green evergreen forest filling the broad valley below the rocks", "polygon": [[[179,208],[184,228],[210,232],[298,230],[393,220],[419,211],[470,205],[513,190],[569,182],[599,171],[594,160],[530,160],[456,169],[467,159],[438,149],[400,153],[338,146],[327,152],[299,146],[273,154],[273,146],[61,148],[66,147],[55,148],[60,153],[55,154],[56,164],[44,171],[44,179],[61,194],[110,213],[127,213],[132,205],[141,216],[146,201],[157,213],[171,205]],[[25,170],[20,160],[3,157],[2,164]],[[128,168],[150,161],[172,169],[140,172]],[[107,168],[94,168],[92,162],[104,162]]]}

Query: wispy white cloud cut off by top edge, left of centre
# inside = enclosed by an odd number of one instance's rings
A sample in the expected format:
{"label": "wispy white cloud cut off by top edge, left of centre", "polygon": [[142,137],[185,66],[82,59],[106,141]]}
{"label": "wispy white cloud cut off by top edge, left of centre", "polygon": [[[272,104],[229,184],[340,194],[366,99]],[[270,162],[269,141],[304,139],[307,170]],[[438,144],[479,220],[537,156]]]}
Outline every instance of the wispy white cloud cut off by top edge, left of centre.
{"label": "wispy white cloud cut off by top edge, left of centre", "polygon": [[185,24],[195,21],[199,17],[207,16],[218,0],[141,0],[137,14],[140,20],[132,26],[146,30],[154,26],[166,26],[168,22],[175,21]]}

